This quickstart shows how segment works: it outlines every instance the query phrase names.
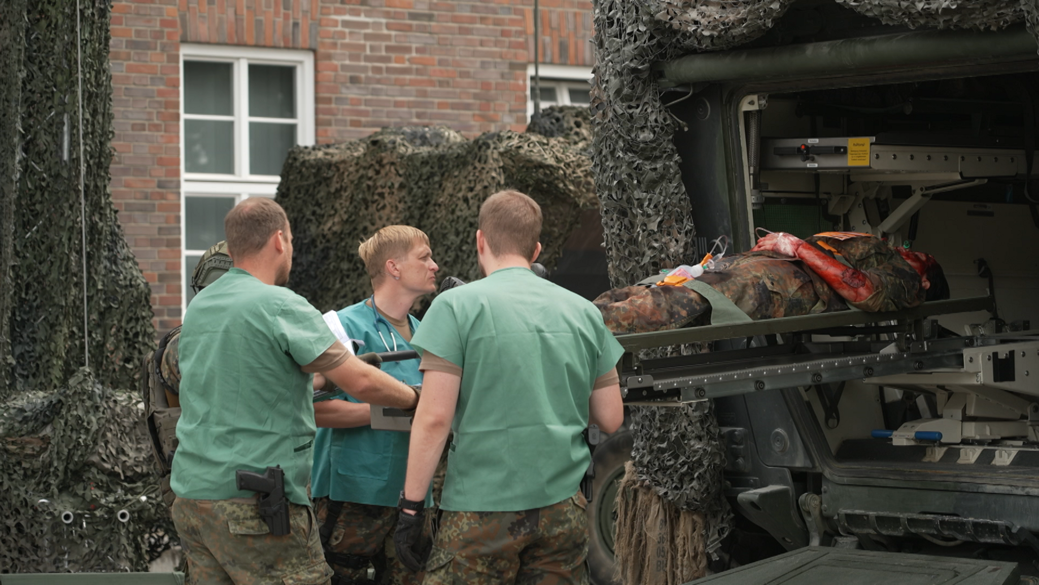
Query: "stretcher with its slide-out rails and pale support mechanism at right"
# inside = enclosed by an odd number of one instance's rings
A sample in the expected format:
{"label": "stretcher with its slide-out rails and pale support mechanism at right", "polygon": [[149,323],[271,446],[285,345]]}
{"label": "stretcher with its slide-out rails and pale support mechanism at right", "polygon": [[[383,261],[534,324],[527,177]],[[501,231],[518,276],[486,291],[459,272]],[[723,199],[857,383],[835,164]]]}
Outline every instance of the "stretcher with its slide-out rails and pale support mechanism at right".
{"label": "stretcher with its slide-out rails and pale support mechanism at right", "polygon": [[[617,337],[625,350],[619,365],[621,394],[629,405],[675,406],[816,387],[823,389],[824,409],[835,410],[841,382],[857,379],[933,391],[937,397],[940,416],[874,431],[894,445],[941,449],[1006,438],[1037,442],[1039,333],[937,335],[933,317],[990,311],[992,302],[991,297],[961,298],[890,313],[852,310],[622,335]],[[654,356],[712,342],[712,351]]]}

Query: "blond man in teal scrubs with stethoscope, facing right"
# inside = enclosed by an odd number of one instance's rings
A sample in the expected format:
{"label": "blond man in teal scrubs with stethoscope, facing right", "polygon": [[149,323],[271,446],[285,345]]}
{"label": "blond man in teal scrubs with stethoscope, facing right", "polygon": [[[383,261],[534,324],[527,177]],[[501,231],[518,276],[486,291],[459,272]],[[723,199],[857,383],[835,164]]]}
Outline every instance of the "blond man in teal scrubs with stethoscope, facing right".
{"label": "blond man in teal scrubs with stethoscope, facing right", "polygon": [[[372,280],[373,294],[338,312],[361,351],[409,351],[419,320],[415,301],[436,290],[436,263],[429,238],[409,225],[390,225],[361,244],[357,254]],[[408,384],[422,383],[419,361],[382,364],[382,371]],[[393,529],[404,485],[408,434],[375,430],[371,408],[352,396],[314,406],[319,428],[314,449],[314,505],[332,585],[375,582],[409,585],[419,579],[397,558]],[[427,503],[430,503],[428,496]]]}

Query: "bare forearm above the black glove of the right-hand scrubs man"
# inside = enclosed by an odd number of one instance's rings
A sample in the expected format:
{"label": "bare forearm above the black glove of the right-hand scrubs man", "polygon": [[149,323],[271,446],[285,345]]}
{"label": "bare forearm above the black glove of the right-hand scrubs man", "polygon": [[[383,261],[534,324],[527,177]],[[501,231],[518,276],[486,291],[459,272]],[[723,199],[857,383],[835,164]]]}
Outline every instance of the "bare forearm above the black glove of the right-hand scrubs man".
{"label": "bare forearm above the black glove of the right-hand scrubs man", "polygon": [[458,375],[436,370],[424,372],[422,401],[411,422],[411,443],[404,480],[404,498],[407,500],[426,499],[429,482],[433,479],[451,431],[460,387],[461,377]]}

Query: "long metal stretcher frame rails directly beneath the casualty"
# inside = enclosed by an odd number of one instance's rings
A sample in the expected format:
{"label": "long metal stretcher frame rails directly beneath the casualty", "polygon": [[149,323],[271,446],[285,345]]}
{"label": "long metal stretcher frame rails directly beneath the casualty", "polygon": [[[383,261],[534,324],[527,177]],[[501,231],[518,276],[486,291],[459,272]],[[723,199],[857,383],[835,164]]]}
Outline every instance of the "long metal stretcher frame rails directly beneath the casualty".
{"label": "long metal stretcher frame rails directly beneath the casualty", "polygon": [[[621,360],[621,389],[627,404],[668,405],[765,390],[841,382],[889,374],[939,368],[962,367],[964,347],[979,343],[976,338],[952,338],[906,345],[881,351],[883,342],[796,343],[776,346],[715,351],[674,357],[639,360],[637,352],[669,345],[746,339],[772,334],[853,335],[852,325],[894,321],[894,328],[915,330],[923,340],[923,320],[936,315],[987,311],[991,297],[927,302],[905,311],[870,313],[842,311],[767,319],[751,323],[707,325],[667,331],[618,336],[625,349]],[[878,327],[861,328],[859,335],[878,333]]]}

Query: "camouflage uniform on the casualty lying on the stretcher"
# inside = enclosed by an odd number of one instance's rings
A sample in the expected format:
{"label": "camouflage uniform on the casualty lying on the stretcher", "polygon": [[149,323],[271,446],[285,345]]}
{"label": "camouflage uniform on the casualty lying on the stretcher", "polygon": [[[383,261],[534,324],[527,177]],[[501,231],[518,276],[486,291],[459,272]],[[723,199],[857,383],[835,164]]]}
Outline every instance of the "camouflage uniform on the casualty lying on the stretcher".
{"label": "camouflage uniform on the casualty lying on the stretcher", "polygon": [[[849,304],[863,311],[897,311],[915,307],[928,296],[921,274],[905,255],[879,238],[820,234],[804,241],[827,257],[829,265],[856,280],[860,288],[870,287],[872,294],[858,301],[846,300],[806,262],[770,250],[724,258],[697,281],[725,295],[754,320],[843,311]],[[710,302],[684,286],[613,289],[593,303],[614,333],[659,331],[710,322]]]}

